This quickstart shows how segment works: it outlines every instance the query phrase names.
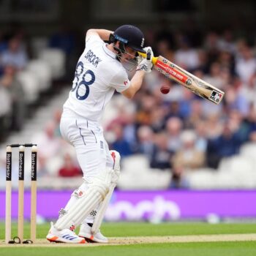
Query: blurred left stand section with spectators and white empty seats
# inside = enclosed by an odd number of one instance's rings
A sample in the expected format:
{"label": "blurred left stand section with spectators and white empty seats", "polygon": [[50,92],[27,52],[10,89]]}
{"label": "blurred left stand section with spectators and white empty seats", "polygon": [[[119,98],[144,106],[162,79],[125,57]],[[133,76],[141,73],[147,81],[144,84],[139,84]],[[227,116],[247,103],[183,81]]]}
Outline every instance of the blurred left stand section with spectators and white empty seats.
{"label": "blurred left stand section with spectators and white empty seats", "polygon": [[23,128],[43,93],[72,80],[79,47],[68,28],[50,37],[29,37],[17,23],[0,30],[0,141]]}

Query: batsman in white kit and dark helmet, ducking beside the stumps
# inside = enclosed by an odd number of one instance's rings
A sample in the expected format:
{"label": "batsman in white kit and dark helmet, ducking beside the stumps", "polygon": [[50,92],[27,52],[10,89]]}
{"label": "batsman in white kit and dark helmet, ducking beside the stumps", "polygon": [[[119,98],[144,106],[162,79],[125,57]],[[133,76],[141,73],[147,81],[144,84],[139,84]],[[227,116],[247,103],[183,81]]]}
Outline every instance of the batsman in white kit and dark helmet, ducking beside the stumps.
{"label": "batsman in white kit and dark helmet, ducking beside the stumps", "polygon": [[[147,53],[140,63],[138,51]],[[57,222],[51,223],[48,241],[108,243],[99,226],[118,181],[120,155],[109,150],[100,119],[115,90],[129,99],[134,97],[145,74],[151,72],[152,57],[151,48],[144,48],[144,35],[136,26],[120,26],[114,32],[87,31],[86,47],[78,60],[60,123],[62,137],[75,147],[83,184],[61,208]],[[131,65],[137,68],[129,80],[126,67]]]}

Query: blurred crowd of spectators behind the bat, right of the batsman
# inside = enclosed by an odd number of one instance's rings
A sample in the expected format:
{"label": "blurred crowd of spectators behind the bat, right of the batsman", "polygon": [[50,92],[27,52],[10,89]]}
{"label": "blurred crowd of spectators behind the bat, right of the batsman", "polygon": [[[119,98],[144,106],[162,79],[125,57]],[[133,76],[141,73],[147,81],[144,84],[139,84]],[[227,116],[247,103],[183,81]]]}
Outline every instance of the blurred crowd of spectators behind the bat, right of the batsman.
{"label": "blurred crowd of spectators behind the bat, right of the batsman", "polygon": [[[223,158],[256,142],[256,44],[235,32],[148,31],[155,56],[225,91],[225,97],[214,105],[151,72],[132,105],[119,108],[108,125],[111,148],[123,157],[145,154],[151,168],[172,171],[170,187],[187,187],[184,171],[217,170]],[[160,92],[164,85],[170,86],[167,95]]]}

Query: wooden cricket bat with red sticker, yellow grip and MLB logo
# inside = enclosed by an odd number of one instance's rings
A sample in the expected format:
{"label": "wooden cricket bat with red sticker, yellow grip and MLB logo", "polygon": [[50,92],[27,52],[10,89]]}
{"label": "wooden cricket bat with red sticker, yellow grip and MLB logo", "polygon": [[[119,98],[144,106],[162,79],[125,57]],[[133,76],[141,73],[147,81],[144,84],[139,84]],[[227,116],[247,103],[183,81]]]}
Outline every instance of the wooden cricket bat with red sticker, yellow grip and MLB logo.
{"label": "wooden cricket bat with red sticker, yellow grip and MLB logo", "polygon": [[[140,56],[143,56],[143,58],[146,58],[146,53],[139,54]],[[157,71],[161,72],[167,78],[173,79],[182,86],[185,86],[194,94],[197,94],[204,99],[208,99],[217,105],[222,101],[225,94],[224,91],[221,91],[210,83],[206,83],[206,81],[197,78],[195,75],[192,75],[181,67],[178,67],[178,65],[168,61],[164,57],[153,57],[152,63],[154,64],[154,69],[157,69]]]}

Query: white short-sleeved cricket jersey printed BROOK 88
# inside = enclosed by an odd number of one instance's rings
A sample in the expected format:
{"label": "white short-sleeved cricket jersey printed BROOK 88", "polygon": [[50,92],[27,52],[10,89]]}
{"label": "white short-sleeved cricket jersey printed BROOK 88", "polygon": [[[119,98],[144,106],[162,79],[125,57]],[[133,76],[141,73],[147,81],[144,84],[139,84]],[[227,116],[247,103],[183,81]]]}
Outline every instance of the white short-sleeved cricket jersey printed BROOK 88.
{"label": "white short-sleeved cricket jersey printed BROOK 88", "polygon": [[78,60],[64,113],[99,121],[115,89],[121,92],[128,87],[127,72],[116,54],[98,36],[91,36]]}

